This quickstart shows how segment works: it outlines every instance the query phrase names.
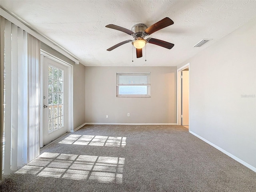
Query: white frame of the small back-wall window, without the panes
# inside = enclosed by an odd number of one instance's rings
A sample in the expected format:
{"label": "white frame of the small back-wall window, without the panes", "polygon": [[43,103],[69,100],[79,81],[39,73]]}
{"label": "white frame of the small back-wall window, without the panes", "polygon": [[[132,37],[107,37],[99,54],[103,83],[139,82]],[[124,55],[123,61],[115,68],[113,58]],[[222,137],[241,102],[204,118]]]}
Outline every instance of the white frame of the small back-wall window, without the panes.
{"label": "white frame of the small back-wall window, without the panes", "polygon": [[[119,76],[144,75],[147,84],[119,84]],[[119,86],[147,86],[147,94],[119,94]],[[150,72],[116,72],[116,97],[150,97]]]}

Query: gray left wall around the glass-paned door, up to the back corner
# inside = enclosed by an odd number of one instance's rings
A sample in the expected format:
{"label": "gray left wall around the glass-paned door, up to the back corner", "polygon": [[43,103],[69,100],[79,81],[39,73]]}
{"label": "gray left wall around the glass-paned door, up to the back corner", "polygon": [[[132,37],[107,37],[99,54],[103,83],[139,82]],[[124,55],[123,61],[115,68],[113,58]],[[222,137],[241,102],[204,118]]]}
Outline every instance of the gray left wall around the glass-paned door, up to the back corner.
{"label": "gray left wall around the glass-paned door, up to the back corner", "polygon": [[41,42],[41,49],[73,65],[74,72],[74,129],[85,123],[85,66],[76,65],[72,60]]}

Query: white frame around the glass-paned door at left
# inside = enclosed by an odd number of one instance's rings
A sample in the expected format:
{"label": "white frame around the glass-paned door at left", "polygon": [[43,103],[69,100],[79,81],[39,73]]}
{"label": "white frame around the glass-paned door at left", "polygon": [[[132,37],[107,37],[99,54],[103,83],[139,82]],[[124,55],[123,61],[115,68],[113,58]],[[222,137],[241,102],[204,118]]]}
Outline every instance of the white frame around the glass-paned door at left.
{"label": "white frame around the glass-paned door at left", "polygon": [[[61,60],[60,58],[44,51],[41,49],[41,60],[40,60],[40,92],[43,93],[43,65],[44,65],[44,57],[47,57],[55,62],[58,62],[67,67],[67,132],[74,132],[74,124],[73,124],[73,65],[68,62]],[[43,147],[43,104],[44,98],[43,94],[40,97],[40,147]]]}

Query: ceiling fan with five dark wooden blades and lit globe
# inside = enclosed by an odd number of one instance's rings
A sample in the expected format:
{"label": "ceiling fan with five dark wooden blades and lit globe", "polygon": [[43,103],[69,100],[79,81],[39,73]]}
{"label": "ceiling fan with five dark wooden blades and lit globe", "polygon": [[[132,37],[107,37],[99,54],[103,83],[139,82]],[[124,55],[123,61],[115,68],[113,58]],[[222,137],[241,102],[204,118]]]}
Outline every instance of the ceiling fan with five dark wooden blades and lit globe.
{"label": "ceiling fan with five dark wooden blades and lit globe", "polygon": [[126,40],[126,41],[120,42],[120,43],[108,48],[107,51],[112,51],[113,49],[115,49],[123,44],[126,44],[128,42],[132,42],[132,45],[136,48],[137,58],[142,57],[142,48],[146,45],[146,43],[151,43],[151,44],[155,44],[155,45],[167,48],[167,49],[171,49],[174,46],[174,44],[172,44],[172,43],[169,43],[169,42],[166,42],[163,40],[159,40],[159,39],[155,39],[155,38],[144,39],[144,37],[149,36],[150,34],[156,32],[162,28],[170,26],[172,24],[174,24],[174,22],[168,17],[156,22],[155,24],[153,24],[150,27],[147,27],[144,24],[136,24],[136,25],[132,26],[132,30],[128,30],[126,28],[123,28],[123,27],[120,27],[117,25],[109,24],[106,26],[107,28],[125,32],[128,35],[133,36],[134,40]]}

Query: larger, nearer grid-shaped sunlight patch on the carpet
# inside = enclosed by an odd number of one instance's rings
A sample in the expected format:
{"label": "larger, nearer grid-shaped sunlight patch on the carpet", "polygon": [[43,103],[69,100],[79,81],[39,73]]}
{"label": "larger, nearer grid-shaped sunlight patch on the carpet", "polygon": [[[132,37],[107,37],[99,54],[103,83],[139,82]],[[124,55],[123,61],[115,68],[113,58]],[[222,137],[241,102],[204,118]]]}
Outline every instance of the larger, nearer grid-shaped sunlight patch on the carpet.
{"label": "larger, nearer grid-shaped sunlight patch on the carpet", "polygon": [[125,158],[44,152],[16,174],[122,183]]}

